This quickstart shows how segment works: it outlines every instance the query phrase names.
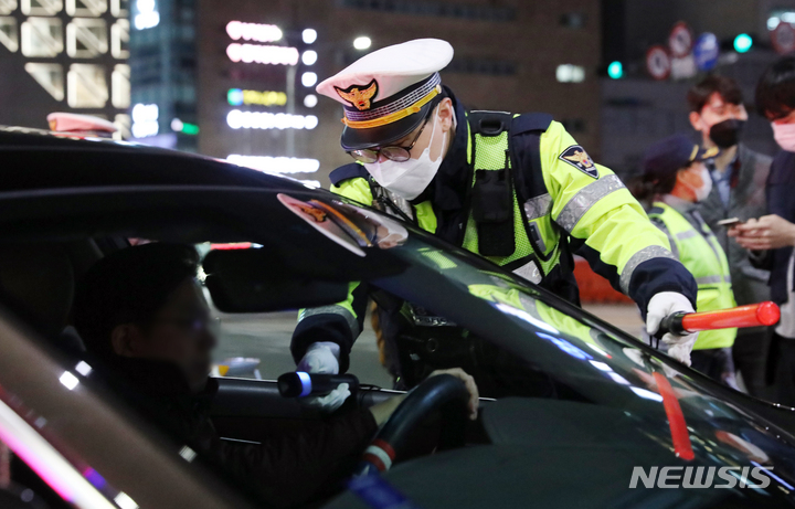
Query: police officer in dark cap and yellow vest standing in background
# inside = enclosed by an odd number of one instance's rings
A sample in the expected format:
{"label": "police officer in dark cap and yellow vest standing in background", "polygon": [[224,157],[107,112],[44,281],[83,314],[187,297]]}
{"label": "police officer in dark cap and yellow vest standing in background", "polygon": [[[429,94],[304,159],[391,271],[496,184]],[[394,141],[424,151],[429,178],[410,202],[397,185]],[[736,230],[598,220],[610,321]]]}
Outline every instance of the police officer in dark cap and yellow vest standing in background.
{"label": "police officer in dark cap and yellow vest standing in background", "polygon": [[[700,149],[685,135],[668,137],[646,151],[643,183],[633,189],[638,200],[654,199],[649,218],[666,233],[674,254],[696,277],[699,311],[736,306],[727,255],[697,210],[697,203],[706,200],[712,189],[704,162],[716,155],[717,147]],[[701,332],[690,353],[692,368],[738,389],[732,360],[735,337],[736,329]],[[677,348],[681,346],[671,347]]]}

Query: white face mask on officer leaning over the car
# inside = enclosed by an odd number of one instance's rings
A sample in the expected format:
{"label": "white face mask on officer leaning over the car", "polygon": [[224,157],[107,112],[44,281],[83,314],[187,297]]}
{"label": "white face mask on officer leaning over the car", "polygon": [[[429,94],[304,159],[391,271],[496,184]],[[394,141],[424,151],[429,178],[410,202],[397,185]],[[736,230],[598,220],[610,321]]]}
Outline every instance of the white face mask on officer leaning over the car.
{"label": "white face mask on officer leaning over the car", "polygon": [[[423,150],[418,159],[409,159],[403,162],[386,159],[383,162],[364,163],[364,168],[373,179],[375,179],[379,185],[389,189],[405,200],[414,200],[425,191],[425,188],[428,187],[436,176],[444,159],[444,155],[439,153],[439,157],[435,161],[431,160],[431,147],[433,147],[433,140],[436,136],[437,120],[438,114],[434,116],[434,128],[431,132],[431,141],[428,141],[428,146]],[[439,152],[444,150],[446,142],[447,132],[445,131]]]}

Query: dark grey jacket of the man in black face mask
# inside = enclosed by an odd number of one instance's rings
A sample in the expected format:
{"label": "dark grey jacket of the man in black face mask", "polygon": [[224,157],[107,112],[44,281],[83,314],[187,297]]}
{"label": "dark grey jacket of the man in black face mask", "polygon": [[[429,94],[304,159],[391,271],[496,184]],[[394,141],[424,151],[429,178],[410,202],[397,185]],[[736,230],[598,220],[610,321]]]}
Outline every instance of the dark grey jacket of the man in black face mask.
{"label": "dark grey jacket of the man in black face mask", "polygon": [[699,203],[699,212],[723,247],[731,271],[732,289],[739,306],[755,304],[770,298],[766,271],[751,265],[748,252],[727,235],[728,229],[718,221],[739,218],[746,221],[766,214],[765,182],[770,174],[772,159],[740,144],[736,161],[730,165],[729,182],[731,192],[729,205],[723,205],[718,185],[712,187],[707,200]]}

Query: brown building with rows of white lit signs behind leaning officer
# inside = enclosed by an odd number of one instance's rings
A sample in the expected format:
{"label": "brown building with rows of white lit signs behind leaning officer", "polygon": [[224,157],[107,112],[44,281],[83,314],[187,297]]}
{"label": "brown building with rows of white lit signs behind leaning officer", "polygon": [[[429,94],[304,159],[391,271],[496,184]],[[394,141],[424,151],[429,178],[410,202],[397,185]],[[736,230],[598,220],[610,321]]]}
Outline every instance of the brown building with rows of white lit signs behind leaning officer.
{"label": "brown building with rows of white lit signs behind leaning officer", "polygon": [[[342,108],[318,97],[317,83],[368,51],[433,36],[455,47],[442,79],[465,105],[549,112],[598,157],[598,2],[198,0],[197,6],[201,153],[328,187],[328,173],[352,159],[339,146]],[[307,124],[310,117],[316,120]]]}

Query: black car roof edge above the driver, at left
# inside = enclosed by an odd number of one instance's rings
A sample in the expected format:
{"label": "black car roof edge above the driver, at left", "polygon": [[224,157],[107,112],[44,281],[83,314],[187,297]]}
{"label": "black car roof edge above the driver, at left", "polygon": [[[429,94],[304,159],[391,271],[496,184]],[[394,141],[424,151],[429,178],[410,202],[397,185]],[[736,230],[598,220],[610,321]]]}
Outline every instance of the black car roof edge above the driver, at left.
{"label": "black car roof edge above the driver, at left", "polygon": [[296,180],[209,157],[125,141],[0,126],[0,192],[127,185],[223,185],[308,191]]}

